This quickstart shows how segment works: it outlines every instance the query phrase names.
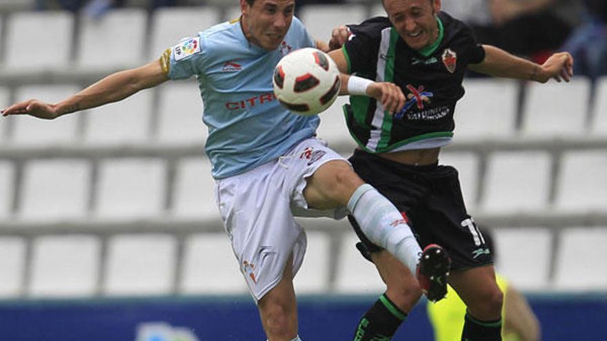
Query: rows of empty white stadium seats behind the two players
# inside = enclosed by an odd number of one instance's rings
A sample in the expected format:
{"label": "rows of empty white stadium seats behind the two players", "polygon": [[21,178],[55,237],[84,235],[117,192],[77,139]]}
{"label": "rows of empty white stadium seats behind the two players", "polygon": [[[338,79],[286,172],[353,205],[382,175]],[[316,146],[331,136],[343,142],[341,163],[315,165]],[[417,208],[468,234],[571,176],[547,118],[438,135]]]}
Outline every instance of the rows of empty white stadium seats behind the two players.
{"label": "rows of empty white stadium seats behind the two players", "polygon": [[[326,39],[333,23],[360,21],[369,11],[383,10],[310,6],[301,19]],[[228,8],[224,19],[238,12]],[[0,105],[63,99],[88,83],[88,74],[155,59],[221,13],[207,7],[149,16],[115,10],[101,20],[64,12],[0,17],[6,24],[0,24],[6,28],[0,77],[17,75],[16,83],[0,86]],[[31,53],[32,45],[44,53]],[[19,77],[49,72],[74,77],[51,85],[43,77]],[[567,85],[466,81],[456,112],[457,142],[441,154],[441,163],[459,169],[470,211],[481,217],[573,216],[558,229],[492,226],[497,266],[521,289],[607,285],[606,258],[599,248],[586,247],[607,242],[607,226],[589,228],[584,218],[606,211],[607,79],[596,84],[594,96],[592,90],[586,79]],[[218,225],[210,163],[202,155],[208,133],[199,98],[195,82],[175,82],[52,122],[0,119],[0,298],[246,292]],[[321,114],[319,136],[349,154],[355,145],[341,112],[346,101],[339,98]],[[212,228],[186,233],[174,229],[175,221]],[[107,234],[79,229],[91,222],[125,227]],[[165,222],[160,232],[146,229]],[[302,224],[312,231],[298,291],[381,291],[375,269],[353,247],[347,223]],[[3,225],[33,229],[3,231]],[[68,232],[63,225],[71,226]]]}

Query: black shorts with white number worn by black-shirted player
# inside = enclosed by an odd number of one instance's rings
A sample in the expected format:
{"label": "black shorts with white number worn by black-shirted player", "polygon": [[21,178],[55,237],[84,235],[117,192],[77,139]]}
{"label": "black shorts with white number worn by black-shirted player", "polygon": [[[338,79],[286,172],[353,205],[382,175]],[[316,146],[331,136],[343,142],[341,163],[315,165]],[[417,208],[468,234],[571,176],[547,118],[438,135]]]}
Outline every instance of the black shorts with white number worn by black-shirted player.
{"label": "black shorts with white number worn by black-shirted player", "polygon": [[[444,247],[453,270],[493,263],[483,236],[466,212],[457,169],[436,164],[404,165],[361,150],[350,157],[350,163],[366,183],[401,211],[422,249],[429,244]],[[349,218],[366,249],[381,250]]]}

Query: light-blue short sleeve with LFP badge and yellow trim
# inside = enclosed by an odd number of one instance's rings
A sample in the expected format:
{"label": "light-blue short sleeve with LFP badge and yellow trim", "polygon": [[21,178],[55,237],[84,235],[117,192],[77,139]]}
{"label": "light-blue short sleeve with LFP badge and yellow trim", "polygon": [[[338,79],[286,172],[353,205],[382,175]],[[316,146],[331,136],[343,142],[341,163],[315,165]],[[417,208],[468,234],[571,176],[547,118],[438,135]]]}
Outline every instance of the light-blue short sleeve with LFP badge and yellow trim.
{"label": "light-blue short sleeve with LFP badge and yellow trim", "polygon": [[161,56],[161,65],[168,79],[188,79],[201,72],[203,46],[199,36],[181,39]]}

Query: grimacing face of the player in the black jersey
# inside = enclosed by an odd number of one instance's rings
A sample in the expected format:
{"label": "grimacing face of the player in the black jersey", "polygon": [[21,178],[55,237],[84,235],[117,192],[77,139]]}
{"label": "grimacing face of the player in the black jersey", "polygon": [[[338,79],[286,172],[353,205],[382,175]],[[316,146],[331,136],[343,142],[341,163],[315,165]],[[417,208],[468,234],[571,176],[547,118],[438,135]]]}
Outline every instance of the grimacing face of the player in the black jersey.
{"label": "grimacing face of the player in the black jersey", "polygon": [[388,18],[405,43],[414,50],[432,45],[439,36],[436,13],[440,0],[384,0]]}

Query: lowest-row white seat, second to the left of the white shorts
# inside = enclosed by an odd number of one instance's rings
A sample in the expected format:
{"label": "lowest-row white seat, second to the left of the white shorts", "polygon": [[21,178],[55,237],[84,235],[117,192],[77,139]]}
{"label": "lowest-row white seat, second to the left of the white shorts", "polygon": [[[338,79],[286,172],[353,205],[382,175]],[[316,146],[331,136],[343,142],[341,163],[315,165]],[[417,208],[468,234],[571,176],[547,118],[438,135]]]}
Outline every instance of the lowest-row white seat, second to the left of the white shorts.
{"label": "lowest-row white seat, second to the left of the white shorts", "polygon": [[119,235],[108,240],[103,293],[168,295],[175,278],[177,241],[163,234]]}

